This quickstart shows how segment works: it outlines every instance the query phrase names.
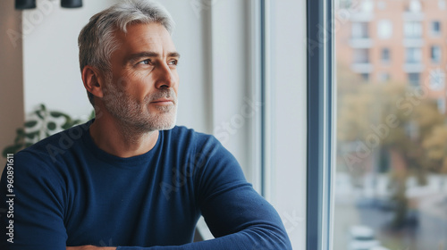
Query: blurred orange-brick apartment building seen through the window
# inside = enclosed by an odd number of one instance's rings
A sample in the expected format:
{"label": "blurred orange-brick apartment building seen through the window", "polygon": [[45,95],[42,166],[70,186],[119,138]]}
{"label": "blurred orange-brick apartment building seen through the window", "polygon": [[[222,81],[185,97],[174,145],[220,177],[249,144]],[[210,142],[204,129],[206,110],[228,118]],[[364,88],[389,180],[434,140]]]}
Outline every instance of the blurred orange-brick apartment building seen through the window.
{"label": "blurred orange-brick apartment building seen through the window", "polygon": [[341,0],[336,58],[367,83],[425,87],[445,112],[445,0]]}

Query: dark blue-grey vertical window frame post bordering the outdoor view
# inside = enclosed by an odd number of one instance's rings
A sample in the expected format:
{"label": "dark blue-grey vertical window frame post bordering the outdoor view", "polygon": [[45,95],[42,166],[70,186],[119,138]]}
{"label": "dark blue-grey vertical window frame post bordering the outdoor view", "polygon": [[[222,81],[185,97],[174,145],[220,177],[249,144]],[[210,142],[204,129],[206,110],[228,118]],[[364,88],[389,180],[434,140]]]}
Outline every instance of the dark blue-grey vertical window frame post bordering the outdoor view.
{"label": "dark blue-grey vertical window frame post bordering the outdoor view", "polygon": [[[333,214],[333,1],[307,1],[308,250],[332,249]],[[325,34],[322,37],[321,29]],[[329,30],[329,31],[328,31]],[[315,44],[316,43],[316,44]],[[316,46],[317,45],[317,46]],[[312,48],[312,49],[310,49]]]}

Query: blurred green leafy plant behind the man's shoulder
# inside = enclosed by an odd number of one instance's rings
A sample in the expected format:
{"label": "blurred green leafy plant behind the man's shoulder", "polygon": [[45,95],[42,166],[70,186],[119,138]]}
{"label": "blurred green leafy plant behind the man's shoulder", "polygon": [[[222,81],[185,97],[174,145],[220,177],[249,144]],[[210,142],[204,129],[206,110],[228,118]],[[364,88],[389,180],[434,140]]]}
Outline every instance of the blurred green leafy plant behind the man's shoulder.
{"label": "blurred green leafy plant behind the man's shoulder", "polygon": [[[88,120],[94,117],[95,112],[92,111]],[[30,114],[30,119],[25,121],[23,127],[16,130],[13,145],[4,147],[2,155],[6,157],[7,154],[15,154],[45,137],[83,122],[86,121],[72,119],[70,115],[63,112],[48,111],[45,104],[40,104],[39,108]]]}

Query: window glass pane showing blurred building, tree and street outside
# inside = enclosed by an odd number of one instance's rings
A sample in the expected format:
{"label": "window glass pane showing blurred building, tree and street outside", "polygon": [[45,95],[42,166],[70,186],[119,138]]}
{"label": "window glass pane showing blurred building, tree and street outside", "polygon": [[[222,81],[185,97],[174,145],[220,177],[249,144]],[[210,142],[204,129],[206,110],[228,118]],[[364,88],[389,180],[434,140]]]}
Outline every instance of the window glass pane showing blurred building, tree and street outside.
{"label": "window glass pane showing blurred building, tree and street outside", "polygon": [[445,2],[334,1],[334,250],[447,250]]}

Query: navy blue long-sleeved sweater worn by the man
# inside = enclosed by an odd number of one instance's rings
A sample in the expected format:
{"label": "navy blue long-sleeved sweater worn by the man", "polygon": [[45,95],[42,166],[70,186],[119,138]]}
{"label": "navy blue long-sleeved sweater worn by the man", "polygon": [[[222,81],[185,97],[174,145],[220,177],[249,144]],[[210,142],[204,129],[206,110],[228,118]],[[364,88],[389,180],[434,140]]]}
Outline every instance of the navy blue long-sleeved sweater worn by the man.
{"label": "navy blue long-sleeved sweater worn by the man", "polygon": [[[0,249],[291,249],[277,212],[215,137],[175,127],[148,153],[121,158],[93,143],[89,124],[13,155]],[[215,239],[191,243],[200,214]]]}

